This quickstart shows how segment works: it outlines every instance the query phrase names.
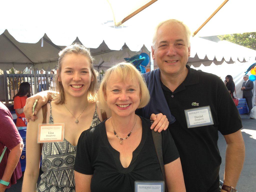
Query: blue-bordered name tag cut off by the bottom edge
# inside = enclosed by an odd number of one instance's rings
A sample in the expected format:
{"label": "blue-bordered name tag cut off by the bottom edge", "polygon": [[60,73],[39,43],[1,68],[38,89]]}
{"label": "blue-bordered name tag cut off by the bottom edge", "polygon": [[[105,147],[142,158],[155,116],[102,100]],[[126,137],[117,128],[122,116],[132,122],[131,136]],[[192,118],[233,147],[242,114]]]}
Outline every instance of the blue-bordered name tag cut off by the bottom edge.
{"label": "blue-bordered name tag cut off by the bottom edge", "polygon": [[164,181],[135,181],[134,191],[164,192]]}

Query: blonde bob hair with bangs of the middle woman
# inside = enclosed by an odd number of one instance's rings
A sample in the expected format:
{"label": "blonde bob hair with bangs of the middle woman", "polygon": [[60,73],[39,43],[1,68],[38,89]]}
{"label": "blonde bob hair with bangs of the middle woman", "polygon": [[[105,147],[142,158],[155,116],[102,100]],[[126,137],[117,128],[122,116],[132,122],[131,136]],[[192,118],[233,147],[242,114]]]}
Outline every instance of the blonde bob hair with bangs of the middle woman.
{"label": "blonde bob hair with bangs of the middle woman", "polygon": [[119,77],[120,80],[124,83],[128,80],[133,80],[134,82],[138,81],[141,92],[141,100],[138,109],[143,108],[148,104],[150,100],[150,94],[147,89],[144,77],[142,77],[142,74],[131,63],[122,62],[112,66],[106,70],[106,73],[104,74],[98,91],[98,101],[102,110],[106,111],[108,109],[104,94],[106,93],[107,83],[113,77]]}

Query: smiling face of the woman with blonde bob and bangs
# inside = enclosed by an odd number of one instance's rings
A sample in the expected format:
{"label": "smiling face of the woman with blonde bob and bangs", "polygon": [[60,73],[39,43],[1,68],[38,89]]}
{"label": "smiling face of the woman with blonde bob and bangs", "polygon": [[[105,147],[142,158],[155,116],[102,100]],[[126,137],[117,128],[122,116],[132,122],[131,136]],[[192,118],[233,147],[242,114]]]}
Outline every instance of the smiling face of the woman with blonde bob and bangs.
{"label": "smiling face of the woman with blonde bob and bangs", "polygon": [[137,80],[123,82],[119,77],[111,77],[104,94],[112,116],[126,117],[135,113],[141,99],[140,85]]}

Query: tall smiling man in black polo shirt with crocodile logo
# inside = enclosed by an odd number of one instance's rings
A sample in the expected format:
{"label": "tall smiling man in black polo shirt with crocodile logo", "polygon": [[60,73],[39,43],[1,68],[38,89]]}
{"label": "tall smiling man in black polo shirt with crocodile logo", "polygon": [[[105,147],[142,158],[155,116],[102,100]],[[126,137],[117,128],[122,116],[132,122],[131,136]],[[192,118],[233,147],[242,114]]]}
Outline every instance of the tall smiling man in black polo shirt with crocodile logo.
{"label": "tall smiling man in black polo shirt with crocodile logo", "polygon": [[[213,74],[191,69],[189,29],[177,20],[158,25],[152,56],[159,69],[145,74],[151,95],[141,111],[167,115],[180,154],[188,192],[219,192],[221,157],[218,131],[226,140],[226,166],[222,192],[235,188],[244,161],[241,118],[230,94]],[[236,190],[233,190],[236,191]]]}

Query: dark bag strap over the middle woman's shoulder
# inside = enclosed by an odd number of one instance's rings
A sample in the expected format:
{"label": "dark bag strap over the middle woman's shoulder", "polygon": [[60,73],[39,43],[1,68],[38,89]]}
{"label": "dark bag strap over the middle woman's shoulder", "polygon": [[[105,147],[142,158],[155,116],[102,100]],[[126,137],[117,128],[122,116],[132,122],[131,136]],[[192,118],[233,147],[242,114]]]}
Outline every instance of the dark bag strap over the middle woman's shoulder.
{"label": "dark bag strap over the middle woman's shoulder", "polygon": [[153,141],[155,145],[155,150],[157,154],[157,158],[161,167],[161,171],[164,177],[164,185],[165,185],[165,191],[168,192],[167,190],[167,185],[166,185],[166,178],[165,178],[165,171],[164,171],[164,160],[163,160],[163,148],[162,148],[162,134],[155,132],[154,129],[152,130],[152,136],[153,136]]}

